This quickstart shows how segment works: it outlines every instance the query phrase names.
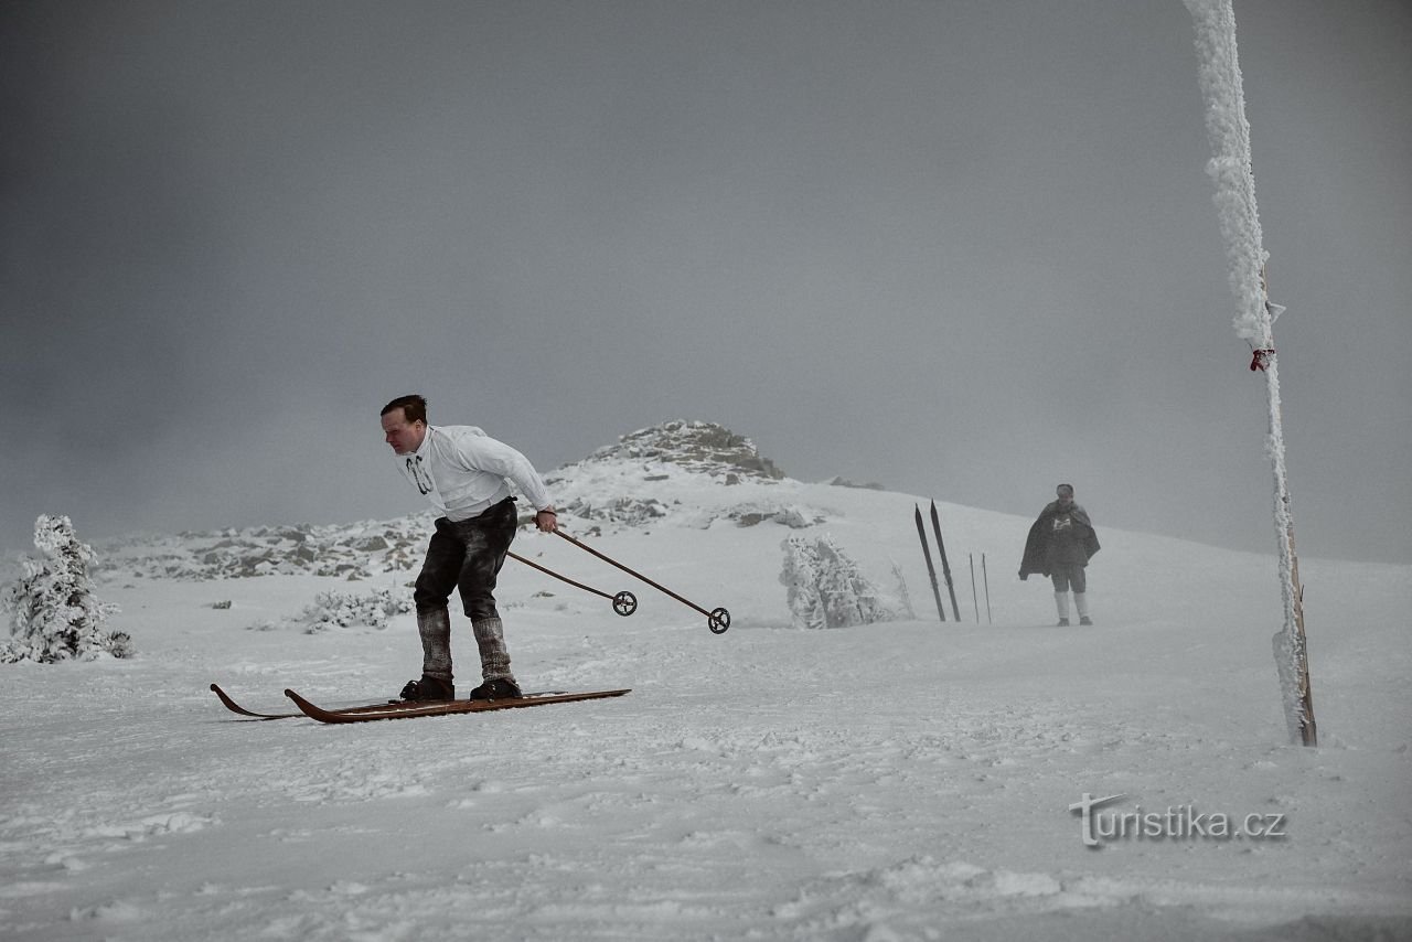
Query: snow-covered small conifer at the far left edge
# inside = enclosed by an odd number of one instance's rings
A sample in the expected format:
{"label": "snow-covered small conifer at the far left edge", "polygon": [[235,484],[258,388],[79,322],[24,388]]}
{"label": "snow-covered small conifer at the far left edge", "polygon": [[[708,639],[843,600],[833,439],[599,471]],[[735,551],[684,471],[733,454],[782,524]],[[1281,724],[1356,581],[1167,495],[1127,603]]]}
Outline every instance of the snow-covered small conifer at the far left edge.
{"label": "snow-covered small conifer at the far left edge", "polygon": [[11,637],[0,645],[0,662],[130,657],[133,640],[103,630],[117,606],[93,595],[88,572],[93,549],[79,542],[69,518],[41,514],[34,521],[34,545],[42,558],[25,559],[24,575],[4,593]]}

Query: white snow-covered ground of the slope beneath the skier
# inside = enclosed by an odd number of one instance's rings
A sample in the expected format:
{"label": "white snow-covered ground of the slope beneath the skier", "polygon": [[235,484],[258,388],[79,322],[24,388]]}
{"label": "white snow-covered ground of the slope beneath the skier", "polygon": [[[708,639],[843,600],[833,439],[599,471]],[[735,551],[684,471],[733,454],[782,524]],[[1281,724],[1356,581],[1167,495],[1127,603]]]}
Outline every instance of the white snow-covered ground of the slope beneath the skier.
{"label": "white snow-covered ground of the slope beneath the skier", "polygon": [[[940,624],[916,497],[621,456],[555,491],[599,514],[566,530],[730,609],[730,631],[522,532],[521,555],[641,600],[624,619],[507,564],[524,686],[633,693],[251,722],[209,684],[287,710],[285,686],[349,705],[414,676],[411,614],[288,624],[319,592],[409,592],[411,573],[165,579],[136,554],[100,586],[138,657],[0,668],[0,936],[1412,938],[1412,568],[1302,561],[1320,729],[1305,749],[1279,709],[1272,555],[1115,531],[1089,506],[1097,624],[1058,628],[1048,582],[1014,575],[1029,520],[939,504],[963,614]],[[616,497],[620,524],[602,510]],[[830,534],[894,596],[895,564],[915,619],[791,628],[794,532]],[[1087,846],[1084,795],[1123,795],[1100,829],[1168,823]],[[1202,836],[1192,815],[1282,836]]]}

